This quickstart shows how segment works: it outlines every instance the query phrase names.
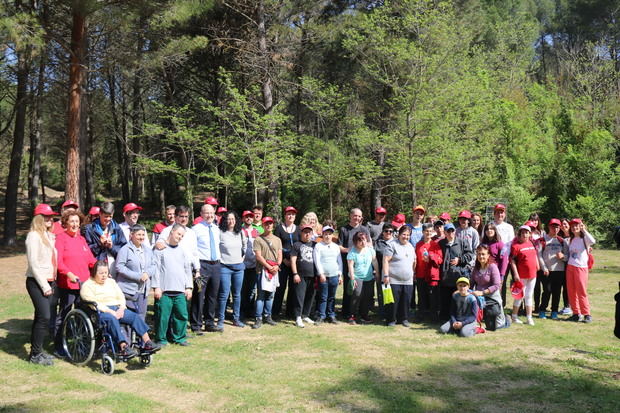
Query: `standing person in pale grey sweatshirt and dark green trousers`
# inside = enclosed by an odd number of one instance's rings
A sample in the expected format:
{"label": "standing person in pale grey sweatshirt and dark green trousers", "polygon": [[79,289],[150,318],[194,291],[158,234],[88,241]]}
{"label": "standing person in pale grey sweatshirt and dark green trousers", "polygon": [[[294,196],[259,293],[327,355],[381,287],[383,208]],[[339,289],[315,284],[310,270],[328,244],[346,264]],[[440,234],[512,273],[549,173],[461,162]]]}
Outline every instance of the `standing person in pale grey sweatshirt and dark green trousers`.
{"label": "standing person in pale grey sweatshirt and dark green trousers", "polygon": [[[160,345],[168,342],[187,346],[187,302],[192,299],[191,260],[179,242],[185,228],[174,224],[166,240],[167,248],[155,251],[157,271],[151,287],[155,297],[156,340]],[[170,334],[167,335],[169,323]]]}

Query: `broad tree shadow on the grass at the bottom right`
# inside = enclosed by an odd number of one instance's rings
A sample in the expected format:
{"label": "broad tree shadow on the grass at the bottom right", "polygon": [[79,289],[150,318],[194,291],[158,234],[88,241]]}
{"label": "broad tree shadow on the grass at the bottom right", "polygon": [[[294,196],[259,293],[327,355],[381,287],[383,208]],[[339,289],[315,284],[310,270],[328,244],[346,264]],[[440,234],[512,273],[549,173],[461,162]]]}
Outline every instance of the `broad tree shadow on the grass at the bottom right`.
{"label": "broad tree shadow on the grass at the bottom right", "polygon": [[[438,362],[415,371],[366,367],[315,393],[351,412],[616,412],[618,386],[581,373],[501,362]],[[525,357],[521,364],[527,363]],[[514,360],[512,360],[514,362]]]}

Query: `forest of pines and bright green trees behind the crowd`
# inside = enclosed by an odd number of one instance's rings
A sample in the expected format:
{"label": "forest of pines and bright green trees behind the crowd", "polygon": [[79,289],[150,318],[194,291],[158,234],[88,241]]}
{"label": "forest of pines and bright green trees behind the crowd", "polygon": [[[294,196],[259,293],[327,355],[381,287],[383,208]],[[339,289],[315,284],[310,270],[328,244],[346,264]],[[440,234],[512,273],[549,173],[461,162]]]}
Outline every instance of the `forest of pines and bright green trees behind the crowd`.
{"label": "forest of pines and bright green trees behind the crowd", "polygon": [[18,199],[620,223],[620,1],[2,0]]}

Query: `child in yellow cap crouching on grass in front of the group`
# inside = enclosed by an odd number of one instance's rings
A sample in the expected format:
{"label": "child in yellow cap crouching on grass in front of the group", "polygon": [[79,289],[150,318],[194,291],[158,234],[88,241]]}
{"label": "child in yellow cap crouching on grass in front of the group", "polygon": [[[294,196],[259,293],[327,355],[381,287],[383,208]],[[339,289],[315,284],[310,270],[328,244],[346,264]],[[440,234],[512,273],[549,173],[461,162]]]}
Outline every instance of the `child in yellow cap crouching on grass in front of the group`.
{"label": "child in yellow cap crouching on grass in front of the group", "polygon": [[450,306],[450,320],[440,328],[444,334],[454,333],[461,337],[472,337],[476,334],[476,316],[478,315],[478,301],[469,291],[469,279],[461,277],[456,281],[457,291],[452,294]]}

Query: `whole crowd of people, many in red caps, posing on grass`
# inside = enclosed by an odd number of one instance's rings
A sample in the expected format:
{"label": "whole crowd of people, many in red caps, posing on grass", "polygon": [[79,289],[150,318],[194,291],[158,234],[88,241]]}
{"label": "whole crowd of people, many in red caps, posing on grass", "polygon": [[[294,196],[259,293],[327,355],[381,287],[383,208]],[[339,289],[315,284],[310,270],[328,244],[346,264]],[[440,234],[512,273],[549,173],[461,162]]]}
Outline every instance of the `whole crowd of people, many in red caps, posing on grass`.
{"label": "whole crowd of people, many in red caps, posing on grass", "polygon": [[[26,239],[33,363],[53,364],[54,356],[43,351],[48,332],[55,356],[66,356],[61,325],[80,298],[97,304],[123,354],[135,350],[121,323],[138,333],[147,350],[187,346],[188,326],[195,336],[222,332],[229,304],[238,328],[248,320],[253,329],[276,325],[281,316],[299,328],[338,323],[340,285],[340,319],[349,324],[371,323],[374,311],[388,326],[407,327],[414,309],[416,321],[445,322],[442,332],[471,336],[482,325],[496,330],[522,323],[522,303],[533,325],[532,313],[546,318],[549,301],[552,319],[568,312],[568,301],[570,320],[592,321],[587,279],[595,240],[579,219],[552,219],[545,232],[532,214],[515,234],[502,204],[486,225],[467,210],[454,225],[448,213],[427,216],[422,206],[413,208],[409,223],[404,214],[389,222],[379,207],[363,224],[362,211],[353,208],[349,222],[336,230],[313,212],[296,224],[292,206],[276,223],[263,217],[260,205],[239,216],[208,197],[191,226],[189,207],[168,206],[149,239],[138,223],[141,210],[126,204],[124,221],[117,223],[110,202],[85,217],[77,203],[65,201],[54,222],[58,214],[49,205],[35,208]],[[504,313],[508,286],[515,297],[510,317]],[[152,339],[146,325],[151,291]]]}

